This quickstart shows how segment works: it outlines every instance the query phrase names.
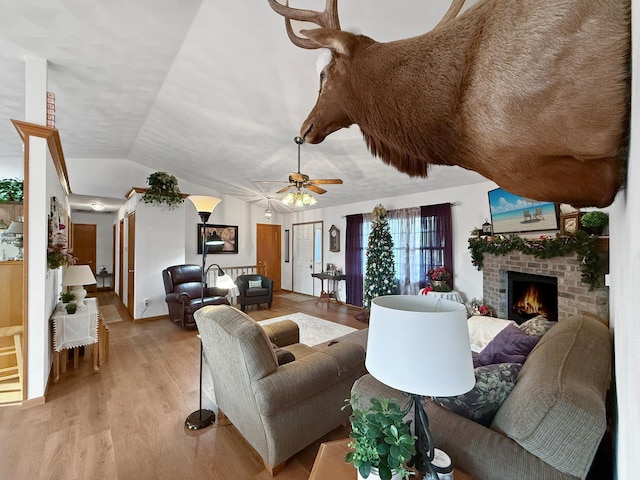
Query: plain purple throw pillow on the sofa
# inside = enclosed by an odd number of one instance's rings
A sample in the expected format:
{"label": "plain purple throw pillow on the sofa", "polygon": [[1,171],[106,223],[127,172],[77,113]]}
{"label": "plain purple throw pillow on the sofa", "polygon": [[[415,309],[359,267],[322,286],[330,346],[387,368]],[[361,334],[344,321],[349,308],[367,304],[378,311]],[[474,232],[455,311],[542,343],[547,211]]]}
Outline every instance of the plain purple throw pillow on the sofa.
{"label": "plain purple throw pillow on the sofa", "polygon": [[538,340],[540,337],[527,335],[516,325],[507,325],[473,359],[473,366],[506,362],[524,363]]}

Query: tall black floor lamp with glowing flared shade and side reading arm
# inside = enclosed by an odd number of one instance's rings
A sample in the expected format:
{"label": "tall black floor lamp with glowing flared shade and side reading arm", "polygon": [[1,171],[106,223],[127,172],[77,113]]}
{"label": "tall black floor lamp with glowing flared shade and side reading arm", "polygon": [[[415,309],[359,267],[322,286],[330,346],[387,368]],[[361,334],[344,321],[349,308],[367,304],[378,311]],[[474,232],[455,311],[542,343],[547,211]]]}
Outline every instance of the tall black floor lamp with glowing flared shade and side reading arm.
{"label": "tall black floor lamp with glowing flared shade and side reading arm", "polygon": [[[196,211],[198,212],[198,215],[200,215],[200,220],[202,220],[202,223],[203,223],[202,225],[202,278],[201,278],[202,293],[200,296],[200,301],[204,305],[204,289],[207,283],[206,269],[205,269],[205,264],[207,262],[207,251],[209,250],[210,246],[222,245],[224,243],[218,235],[216,235],[217,239],[213,235],[207,238],[205,233],[206,232],[205,227],[207,225],[207,221],[209,220],[209,216],[211,216],[211,213],[213,212],[214,208],[216,208],[216,206],[221,202],[221,200],[216,197],[208,197],[204,195],[190,195],[187,198],[191,200],[191,202],[193,202],[193,205],[195,206]],[[198,335],[198,338],[200,338],[200,335]],[[198,391],[199,392],[198,393],[199,408],[198,410],[193,412],[191,415],[189,415],[187,419],[184,421],[185,426],[189,430],[200,430],[201,428],[205,428],[212,425],[213,422],[215,422],[216,420],[216,414],[212,410],[202,408],[202,359],[203,357],[204,357],[204,352],[202,349],[202,340],[200,340],[200,386]]]}

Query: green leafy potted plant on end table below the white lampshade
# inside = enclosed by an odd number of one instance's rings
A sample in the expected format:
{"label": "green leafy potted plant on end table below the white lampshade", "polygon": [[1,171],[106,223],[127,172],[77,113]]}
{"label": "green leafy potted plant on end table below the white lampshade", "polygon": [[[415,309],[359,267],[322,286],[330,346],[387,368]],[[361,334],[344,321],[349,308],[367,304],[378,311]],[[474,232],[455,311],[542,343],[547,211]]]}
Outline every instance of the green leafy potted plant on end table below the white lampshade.
{"label": "green leafy potted plant on end table below the white lampshade", "polygon": [[358,479],[408,478],[404,464],[416,453],[416,437],[411,435],[410,422],[403,420],[405,412],[388,399],[372,398],[366,410],[355,408],[355,395],[347,403],[353,410],[349,417],[353,451],[344,460],[356,467]]}

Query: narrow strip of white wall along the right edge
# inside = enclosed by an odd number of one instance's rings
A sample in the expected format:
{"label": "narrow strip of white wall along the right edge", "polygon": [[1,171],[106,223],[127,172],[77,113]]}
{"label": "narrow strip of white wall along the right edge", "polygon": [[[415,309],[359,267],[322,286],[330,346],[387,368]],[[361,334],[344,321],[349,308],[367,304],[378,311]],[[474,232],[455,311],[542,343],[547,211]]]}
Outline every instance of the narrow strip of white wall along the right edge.
{"label": "narrow strip of white wall along the right edge", "polygon": [[632,0],[631,146],[627,188],[618,194],[610,214],[610,312],[615,351],[617,393],[616,478],[640,472],[640,0]]}

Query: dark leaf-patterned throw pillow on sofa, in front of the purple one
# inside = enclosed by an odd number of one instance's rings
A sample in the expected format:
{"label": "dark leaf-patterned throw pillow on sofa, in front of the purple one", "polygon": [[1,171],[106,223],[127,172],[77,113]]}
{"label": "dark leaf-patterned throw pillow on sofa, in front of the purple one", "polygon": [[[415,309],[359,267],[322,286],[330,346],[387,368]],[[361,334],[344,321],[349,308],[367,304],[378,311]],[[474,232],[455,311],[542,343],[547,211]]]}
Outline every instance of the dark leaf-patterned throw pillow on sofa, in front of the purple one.
{"label": "dark leaf-patterned throw pillow on sofa, in front of the purple one", "polygon": [[457,397],[434,397],[432,400],[453,413],[488,427],[513,390],[521,367],[520,363],[478,367],[474,369],[476,385],[471,391]]}

